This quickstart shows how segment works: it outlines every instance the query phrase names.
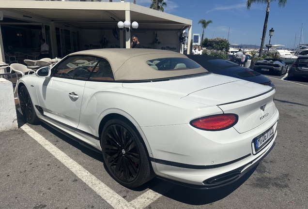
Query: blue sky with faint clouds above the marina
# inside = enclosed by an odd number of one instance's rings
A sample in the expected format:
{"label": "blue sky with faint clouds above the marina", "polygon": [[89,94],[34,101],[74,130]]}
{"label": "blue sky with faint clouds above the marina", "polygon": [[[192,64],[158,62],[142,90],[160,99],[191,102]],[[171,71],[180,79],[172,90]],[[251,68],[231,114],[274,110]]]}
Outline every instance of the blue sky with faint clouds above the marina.
{"label": "blue sky with faint clouds above the marina", "polygon": [[[205,19],[212,20],[213,23],[204,30],[204,37],[227,38],[230,27],[230,44],[261,45],[266,4],[253,3],[250,10],[247,10],[246,0],[164,0],[164,2],[167,3],[167,7],[164,7],[165,13],[191,19],[192,33],[200,33],[200,37],[202,27],[198,21]],[[136,0],[136,4],[149,7],[151,0]],[[301,43],[303,38],[304,43],[308,43],[307,8],[308,0],[288,0],[284,8],[279,8],[277,1],[271,2],[265,44],[269,41],[269,30],[274,28],[271,44],[293,48],[295,33],[296,45],[299,44],[302,23]]]}

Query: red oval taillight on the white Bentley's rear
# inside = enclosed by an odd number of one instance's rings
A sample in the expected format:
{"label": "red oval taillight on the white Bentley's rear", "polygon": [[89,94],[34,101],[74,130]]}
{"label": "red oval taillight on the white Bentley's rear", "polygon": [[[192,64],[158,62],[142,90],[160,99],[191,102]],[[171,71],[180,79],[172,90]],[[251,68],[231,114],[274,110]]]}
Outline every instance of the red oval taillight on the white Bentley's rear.
{"label": "red oval taillight on the white Bentley's rear", "polygon": [[238,121],[235,114],[221,114],[202,117],[190,121],[190,125],[205,131],[221,131],[234,126]]}

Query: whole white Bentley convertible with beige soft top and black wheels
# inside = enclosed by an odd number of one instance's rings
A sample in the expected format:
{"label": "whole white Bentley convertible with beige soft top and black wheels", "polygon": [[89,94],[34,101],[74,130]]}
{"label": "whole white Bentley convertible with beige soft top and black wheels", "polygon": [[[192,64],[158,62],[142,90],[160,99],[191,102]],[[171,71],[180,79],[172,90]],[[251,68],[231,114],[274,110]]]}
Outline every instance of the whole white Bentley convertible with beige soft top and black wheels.
{"label": "whole white Bentley convertible with beige soft top and black wheels", "polygon": [[155,176],[194,188],[229,184],[277,136],[274,88],[214,75],[166,50],[79,51],[16,88],[28,123],[41,120],[102,152],[126,187]]}

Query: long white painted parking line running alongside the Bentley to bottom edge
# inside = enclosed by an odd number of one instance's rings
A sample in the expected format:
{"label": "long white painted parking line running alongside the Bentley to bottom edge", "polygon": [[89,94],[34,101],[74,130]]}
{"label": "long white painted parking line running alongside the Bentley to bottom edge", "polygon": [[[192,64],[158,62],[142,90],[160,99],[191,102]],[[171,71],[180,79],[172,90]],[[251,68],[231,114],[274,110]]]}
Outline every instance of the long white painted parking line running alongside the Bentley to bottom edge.
{"label": "long white painted parking line running alongside the Bentley to bottom edge", "polygon": [[129,202],[127,202],[119,194],[111,190],[106,184],[94,177],[89,171],[84,169],[81,165],[77,164],[73,159],[67,156],[60,149],[51,144],[42,135],[35,132],[27,124],[20,127],[33,139],[35,139],[40,145],[42,145],[47,151],[49,151],[55,158],[57,158],[62,164],[70,169],[79,179],[85,182],[92,188],[98,195],[100,195],[106,202],[108,202],[115,209],[135,209]]}

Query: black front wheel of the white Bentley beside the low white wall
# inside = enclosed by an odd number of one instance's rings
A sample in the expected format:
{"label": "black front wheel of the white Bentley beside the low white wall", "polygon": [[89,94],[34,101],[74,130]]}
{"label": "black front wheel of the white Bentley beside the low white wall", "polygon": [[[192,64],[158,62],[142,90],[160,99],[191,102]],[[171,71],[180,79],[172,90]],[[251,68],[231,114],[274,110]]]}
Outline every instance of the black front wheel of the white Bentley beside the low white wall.
{"label": "black front wheel of the white Bentley beside the low white wall", "polygon": [[30,124],[39,122],[39,119],[35,113],[35,107],[32,103],[30,94],[25,86],[22,86],[19,91],[19,105],[25,120]]}

